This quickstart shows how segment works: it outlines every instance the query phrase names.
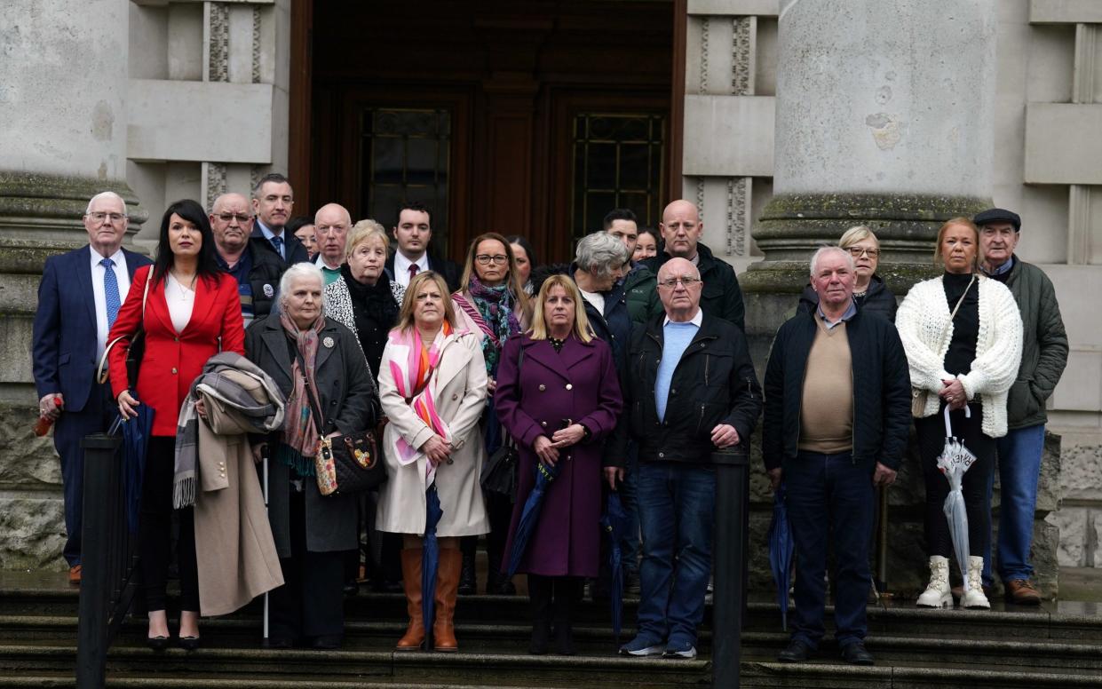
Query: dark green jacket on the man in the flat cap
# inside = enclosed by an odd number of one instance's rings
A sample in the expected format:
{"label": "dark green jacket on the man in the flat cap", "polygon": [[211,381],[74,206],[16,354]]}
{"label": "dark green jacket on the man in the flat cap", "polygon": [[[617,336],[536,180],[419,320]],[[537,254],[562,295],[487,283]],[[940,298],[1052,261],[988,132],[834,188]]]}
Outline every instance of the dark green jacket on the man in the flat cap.
{"label": "dark green jacket on the man in the flat cap", "polygon": [[1006,401],[1007,428],[1014,430],[1048,420],[1045,401],[1068,364],[1068,334],[1052,281],[1044,270],[1015,256],[1005,282],[1018,302],[1025,329],[1022,366]]}

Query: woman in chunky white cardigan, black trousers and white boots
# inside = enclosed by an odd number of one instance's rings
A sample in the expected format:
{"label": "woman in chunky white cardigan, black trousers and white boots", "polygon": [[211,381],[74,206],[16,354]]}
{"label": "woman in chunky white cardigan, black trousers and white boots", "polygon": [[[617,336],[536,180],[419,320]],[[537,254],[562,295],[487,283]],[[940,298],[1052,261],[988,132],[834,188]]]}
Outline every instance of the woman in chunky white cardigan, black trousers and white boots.
{"label": "woman in chunky white cardigan, black trousers and white boots", "polygon": [[991,607],[981,582],[991,528],[984,497],[994,470],[994,439],[1006,434],[1006,394],[1022,359],[1022,316],[1011,291],[975,269],[979,245],[979,230],[968,218],[942,225],[934,260],[944,265],[944,274],[912,287],[896,315],[910,365],[910,384],[916,394],[927,395],[925,409],[915,419],[926,476],[930,557],[930,583],[918,598],[920,607],[952,605],[952,541],[942,513],[949,482],[937,466],[946,440],[946,407],[953,435],[976,456],[963,481],[970,557],[965,563],[969,586],[961,604]]}

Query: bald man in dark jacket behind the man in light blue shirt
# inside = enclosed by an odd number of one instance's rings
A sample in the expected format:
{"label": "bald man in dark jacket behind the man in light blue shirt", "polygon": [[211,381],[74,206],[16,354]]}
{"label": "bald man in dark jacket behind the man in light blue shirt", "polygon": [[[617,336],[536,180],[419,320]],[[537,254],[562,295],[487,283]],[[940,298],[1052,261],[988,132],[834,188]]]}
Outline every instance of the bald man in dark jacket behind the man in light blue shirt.
{"label": "bald man in dark jacket behind the man in light blue shirt", "polygon": [[662,222],[658,229],[662,234],[662,246],[658,256],[642,261],[657,274],[671,258],[688,259],[700,270],[704,291],[700,297],[700,308],[709,315],[731,321],[745,332],[746,308],[743,291],[738,287],[735,269],[730,263],[715,258],[712,250],[700,244],[704,234],[704,223],[696,206],[688,201],[674,201],[662,211]]}

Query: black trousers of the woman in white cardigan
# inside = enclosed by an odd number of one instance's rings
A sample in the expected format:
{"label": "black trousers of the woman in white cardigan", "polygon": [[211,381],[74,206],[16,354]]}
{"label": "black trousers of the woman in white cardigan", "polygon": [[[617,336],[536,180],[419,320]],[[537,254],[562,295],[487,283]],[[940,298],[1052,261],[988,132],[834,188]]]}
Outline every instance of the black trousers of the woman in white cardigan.
{"label": "black trousers of the woman in white cardigan", "polygon": [[[958,409],[949,412],[949,421],[953,435],[963,441],[964,446],[975,455],[975,461],[964,473],[961,484],[968,512],[969,555],[986,557],[984,543],[991,532],[991,512],[986,508],[987,483],[995,469],[995,440],[983,434],[982,407],[979,403],[969,407],[971,418],[965,418],[964,410]],[[942,507],[949,495],[949,480],[938,470],[938,457],[946,446],[943,410],[944,405],[932,417],[915,419],[915,432],[918,435],[918,453],[926,477],[927,555],[948,558],[953,550],[953,541]]]}

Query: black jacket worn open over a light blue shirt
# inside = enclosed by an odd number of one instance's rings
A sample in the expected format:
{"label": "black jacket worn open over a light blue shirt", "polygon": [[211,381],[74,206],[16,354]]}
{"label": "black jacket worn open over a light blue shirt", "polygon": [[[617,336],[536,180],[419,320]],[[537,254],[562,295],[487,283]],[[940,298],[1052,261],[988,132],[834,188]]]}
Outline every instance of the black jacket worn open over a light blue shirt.
{"label": "black jacket worn open over a light blue shirt", "polygon": [[658,420],[655,381],[665,321],[663,313],[636,325],[628,346],[624,409],[631,437],[639,443],[639,461],[710,463],[715,451],[712,429],[720,423],[735,427],[739,444],[748,448],[761,413],[761,388],[746,337],[734,324],[706,311],[673,370],[666,418]]}

